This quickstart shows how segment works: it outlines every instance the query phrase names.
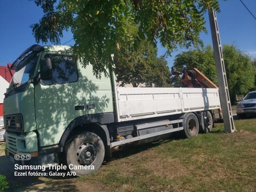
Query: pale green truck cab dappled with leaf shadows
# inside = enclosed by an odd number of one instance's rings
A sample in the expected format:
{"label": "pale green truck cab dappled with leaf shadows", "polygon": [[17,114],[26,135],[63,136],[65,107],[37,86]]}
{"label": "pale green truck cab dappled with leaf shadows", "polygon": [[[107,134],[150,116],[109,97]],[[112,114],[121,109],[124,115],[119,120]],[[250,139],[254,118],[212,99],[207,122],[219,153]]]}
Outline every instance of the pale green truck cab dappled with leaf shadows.
{"label": "pale green truck cab dappled with leaf shadows", "polygon": [[[16,72],[5,94],[4,128],[6,155],[15,163],[58,163],[65,143],[79,129],[99,131],[109,142],[104,135],[108,129],[100,124],[114,122],[111,78],[97,79],[92,66],[83,68],[68,49],[33,45],[12,65]],[[91,164],[96,156],[95,147],[86,144],[81,164]],[[30,154],[31,159],[17,161],[15,154]]]}

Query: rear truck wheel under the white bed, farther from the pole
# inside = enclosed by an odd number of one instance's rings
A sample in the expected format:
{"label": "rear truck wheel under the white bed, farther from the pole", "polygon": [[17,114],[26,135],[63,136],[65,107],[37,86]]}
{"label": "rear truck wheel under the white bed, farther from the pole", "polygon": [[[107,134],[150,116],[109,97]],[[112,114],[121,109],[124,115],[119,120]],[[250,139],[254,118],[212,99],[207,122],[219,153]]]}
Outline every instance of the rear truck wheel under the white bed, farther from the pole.
{"label": "rear truck wheel under the white bed, farther from the pole", "polygon": [[193,138],[198,135],[199,122],[194,113],[188,113],[183,119],[184,133],[187,138]]}

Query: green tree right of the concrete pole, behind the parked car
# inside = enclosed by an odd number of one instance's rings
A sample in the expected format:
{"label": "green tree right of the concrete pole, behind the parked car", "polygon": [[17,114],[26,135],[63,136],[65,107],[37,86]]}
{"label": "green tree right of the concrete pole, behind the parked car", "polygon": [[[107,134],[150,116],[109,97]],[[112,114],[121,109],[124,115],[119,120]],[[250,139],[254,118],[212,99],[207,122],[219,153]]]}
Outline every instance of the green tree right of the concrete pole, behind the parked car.
{"label": "green tree right of the concrete pole, behind the parked car", "polygon": [[255,70],[250,56],[239,51],[235,45],[223,45],[223,58],[230,101],[235,104],[236,95],[244,95],[255,86]]}

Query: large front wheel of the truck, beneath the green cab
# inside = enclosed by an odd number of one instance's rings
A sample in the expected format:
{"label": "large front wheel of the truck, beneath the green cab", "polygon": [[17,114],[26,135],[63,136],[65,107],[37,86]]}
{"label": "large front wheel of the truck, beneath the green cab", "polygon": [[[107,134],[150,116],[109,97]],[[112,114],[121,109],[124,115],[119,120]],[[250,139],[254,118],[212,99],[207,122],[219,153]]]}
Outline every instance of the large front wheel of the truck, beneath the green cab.
{"label": "large front wheel of the truck, beneath the green cab", "polygon": [[77,134],[74,140],[65,146],[65,160],[68,169],[77,176],[96,172],[105,155],[104,143],[93,132]]}

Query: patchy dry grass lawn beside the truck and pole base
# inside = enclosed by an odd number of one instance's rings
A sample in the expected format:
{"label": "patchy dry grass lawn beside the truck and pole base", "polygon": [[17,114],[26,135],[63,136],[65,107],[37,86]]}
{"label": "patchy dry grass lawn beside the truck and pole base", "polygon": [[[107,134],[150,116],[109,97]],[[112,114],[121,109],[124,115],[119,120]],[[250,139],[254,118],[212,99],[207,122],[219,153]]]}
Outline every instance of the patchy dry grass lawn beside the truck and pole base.
{"label": "patchy dry grass lawn beside the truck and pole base", "polygon": [[233,134],[218,124],[196,138],[131,146],[77,180],[113,191],[255,191],[256,118],[234,123]]}

